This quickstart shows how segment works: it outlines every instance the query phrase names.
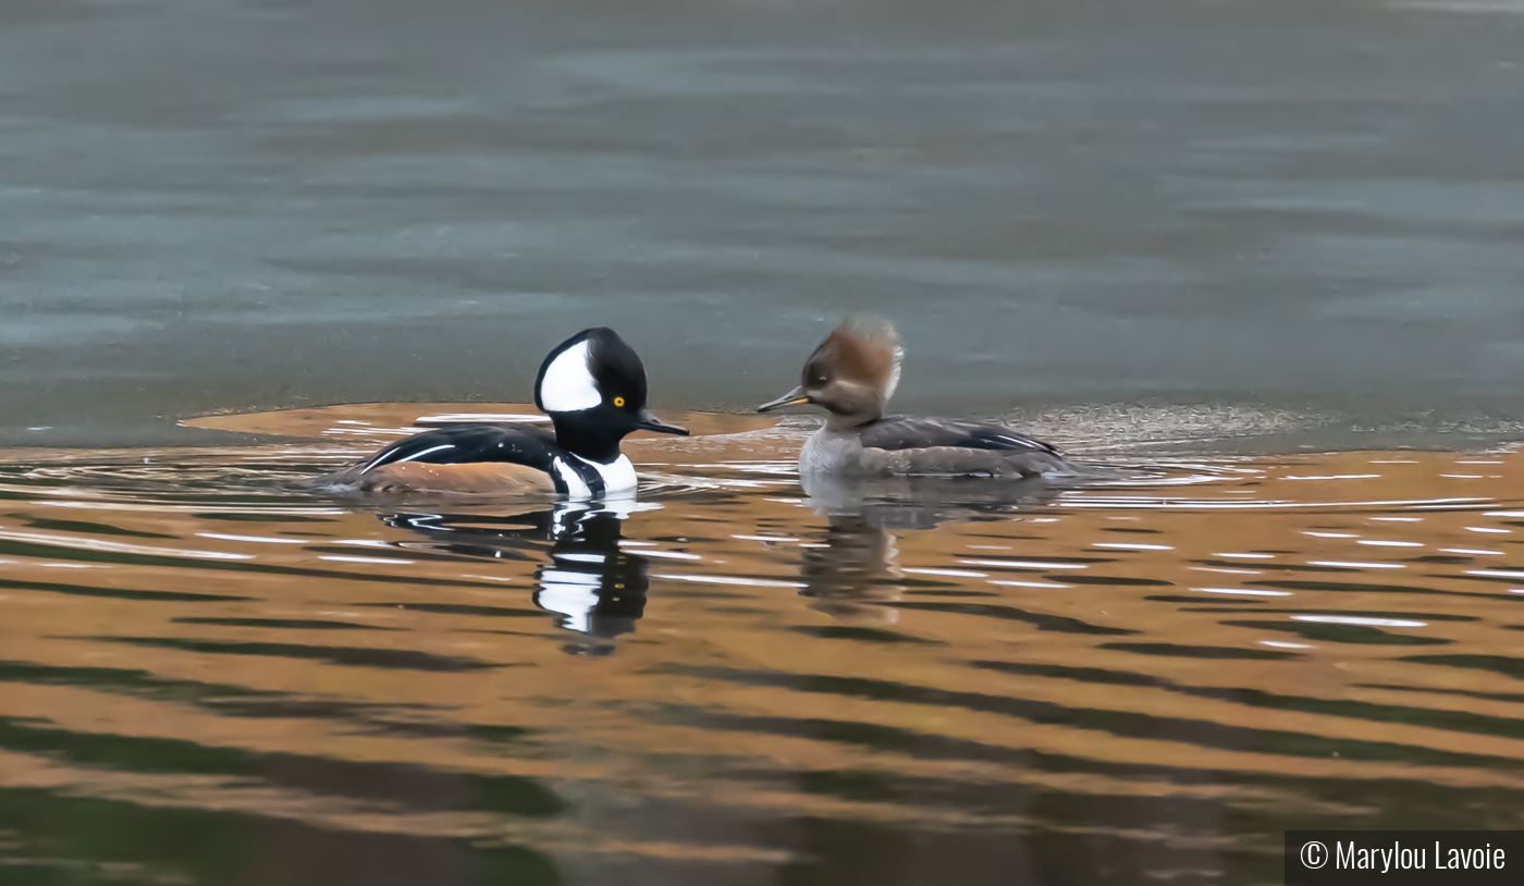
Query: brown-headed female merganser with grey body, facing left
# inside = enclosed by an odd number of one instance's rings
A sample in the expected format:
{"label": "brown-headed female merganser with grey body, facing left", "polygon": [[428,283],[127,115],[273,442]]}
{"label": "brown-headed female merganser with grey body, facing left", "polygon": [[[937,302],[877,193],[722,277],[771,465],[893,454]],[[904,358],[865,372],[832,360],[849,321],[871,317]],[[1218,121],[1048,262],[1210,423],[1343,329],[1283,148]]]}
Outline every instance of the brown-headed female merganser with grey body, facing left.
{"label": "brown-headed female merganser with grey body, facing left", "polygon": [[802,477],[1073,474],[1053,445],[1010,429],[884,415],[899,384],[904,348],[881,319],[847,319],[815,348],[800,386],[757,412],[814,404],[829,415],[799,453]]}

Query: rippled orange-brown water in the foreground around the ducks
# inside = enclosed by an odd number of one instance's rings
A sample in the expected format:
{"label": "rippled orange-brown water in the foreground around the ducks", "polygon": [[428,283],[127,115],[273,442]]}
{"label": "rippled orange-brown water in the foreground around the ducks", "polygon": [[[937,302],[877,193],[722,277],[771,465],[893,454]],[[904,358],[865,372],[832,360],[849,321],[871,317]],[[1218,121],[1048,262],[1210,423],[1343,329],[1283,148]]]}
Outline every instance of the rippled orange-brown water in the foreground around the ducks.
{"label": "rippled orange-brown water in the foreground around the ducks", "polygon": [[632,509],[300,490],[419,412],[12,453],[6,875],[1276,883],[1288,827],[1524,827],[1513,448],[826,502],[799,425],[689,415]]}

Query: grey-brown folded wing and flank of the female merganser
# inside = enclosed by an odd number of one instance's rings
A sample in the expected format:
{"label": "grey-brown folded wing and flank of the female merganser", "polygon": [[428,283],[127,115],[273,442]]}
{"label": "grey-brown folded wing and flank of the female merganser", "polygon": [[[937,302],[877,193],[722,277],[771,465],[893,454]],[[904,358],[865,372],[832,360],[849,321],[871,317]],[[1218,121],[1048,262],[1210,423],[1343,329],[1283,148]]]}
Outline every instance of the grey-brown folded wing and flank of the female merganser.
{"label": "grey-brown folded wing and flank of the female merganser", "polygon": [[1058,447],[994,424],[888,416],[860,429],[858,439],[870,473],[1026,477],[1071,471]]}

